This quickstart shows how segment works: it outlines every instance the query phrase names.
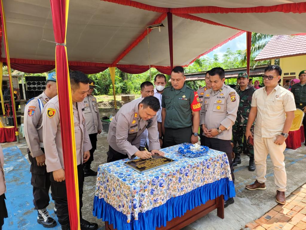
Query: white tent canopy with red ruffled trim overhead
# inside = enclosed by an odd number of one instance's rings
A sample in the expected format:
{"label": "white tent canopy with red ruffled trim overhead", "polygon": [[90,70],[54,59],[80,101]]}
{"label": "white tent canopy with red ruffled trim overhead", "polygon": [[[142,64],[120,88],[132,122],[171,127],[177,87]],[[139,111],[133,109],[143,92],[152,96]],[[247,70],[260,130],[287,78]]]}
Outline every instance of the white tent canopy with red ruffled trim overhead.
{"label": "white tent canopy with red ruffled trim overhead", "polygon": [[[54,61],[55,46],[50,42],[50,2],[4,0],[3,5],[11,63],[53,65],[47,62]],[[69,64],[148,66],[146,27],[161,22],[165,28],[149,34],[150,61],[153,67],[169,67],[167,12],[173,13],[174,66],[186,66],[244,31],[306,33],[306,1],[300,0],[73,0],[67,26]],[[1,51],[5,62],[4,45]]]}

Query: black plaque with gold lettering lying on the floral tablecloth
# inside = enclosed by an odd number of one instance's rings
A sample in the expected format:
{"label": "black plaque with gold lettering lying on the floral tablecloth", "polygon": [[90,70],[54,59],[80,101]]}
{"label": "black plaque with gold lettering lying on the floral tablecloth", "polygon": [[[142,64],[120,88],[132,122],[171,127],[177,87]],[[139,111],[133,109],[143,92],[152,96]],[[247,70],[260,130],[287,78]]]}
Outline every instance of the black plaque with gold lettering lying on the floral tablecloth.
{"label": "black plaque with gold lettering lying on the floral tablecloth", "polygon": [[144,173],[146,171],[162,167],[172,162],[174,162],[173,159],[170,159],[164,156],[160,156],[160,155],[152,155],[152,159],[147,159],[147,160],[134,159],[134,160],[125,162],[125,164],[133,168],[135,171],[139,173]]}

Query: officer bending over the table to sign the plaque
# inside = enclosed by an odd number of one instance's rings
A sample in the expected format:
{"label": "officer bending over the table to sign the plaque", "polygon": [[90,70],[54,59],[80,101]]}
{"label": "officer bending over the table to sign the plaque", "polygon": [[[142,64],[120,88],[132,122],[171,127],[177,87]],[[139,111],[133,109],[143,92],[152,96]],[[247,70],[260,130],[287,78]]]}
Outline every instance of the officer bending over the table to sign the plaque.
{"label": "officer bending over the table to sign the plaque", "polygon": [[[149,159],[151,155],[164,155],[159,151],[160,144],[157,129],[156,113],[159,110],[159,100],[153,96],[139,98],[123,105],[110,122],[107,142],[107,162],[135,156]],[[138,150],[141,134],[148,131],[149,151]]]}

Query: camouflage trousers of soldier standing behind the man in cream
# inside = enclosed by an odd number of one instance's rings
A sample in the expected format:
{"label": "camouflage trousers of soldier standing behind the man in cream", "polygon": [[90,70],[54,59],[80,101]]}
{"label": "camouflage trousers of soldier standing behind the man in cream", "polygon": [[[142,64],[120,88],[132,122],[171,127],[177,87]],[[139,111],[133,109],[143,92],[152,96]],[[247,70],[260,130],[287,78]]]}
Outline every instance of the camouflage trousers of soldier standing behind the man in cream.
{"label": "camouflage trousers of soldier standing behind the man in cream", "polygon": [[[248,144],[246,137],[245,137],[245,129],[246,125],[233,125],[233,152],[235,155],[241,155],[243,151],[243,140],[247,143],[246,149],[247,149],[247,154],[248,156],[254,156],[254,148],[251,144]],[[254,126],[251,127],[251,132],[253,133],[254,131]]]}

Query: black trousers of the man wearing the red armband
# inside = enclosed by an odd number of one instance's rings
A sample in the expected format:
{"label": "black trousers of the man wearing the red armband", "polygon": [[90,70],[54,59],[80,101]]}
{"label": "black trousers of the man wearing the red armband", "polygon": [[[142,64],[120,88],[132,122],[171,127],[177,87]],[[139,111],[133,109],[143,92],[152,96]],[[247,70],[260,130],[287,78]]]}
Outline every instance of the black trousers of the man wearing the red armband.
{"label": "black trousers of the man wearing the red armband", "polygon": [[186,128],[165,128],[164,140],[162,148],[174,146],[182,143],[190,143],[192,135],[191,126]]}

